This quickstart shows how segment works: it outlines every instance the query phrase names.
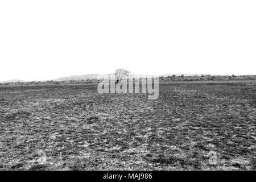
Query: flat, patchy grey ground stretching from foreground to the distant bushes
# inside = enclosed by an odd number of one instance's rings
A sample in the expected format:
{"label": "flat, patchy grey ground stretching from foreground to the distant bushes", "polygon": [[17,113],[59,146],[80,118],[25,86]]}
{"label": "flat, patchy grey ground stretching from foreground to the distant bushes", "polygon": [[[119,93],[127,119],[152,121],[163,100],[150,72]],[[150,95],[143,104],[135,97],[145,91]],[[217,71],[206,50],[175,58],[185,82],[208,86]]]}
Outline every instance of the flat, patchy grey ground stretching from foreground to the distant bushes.
{"label": "flat, patchy grey ground stretching from foreground to the distant bushes", "polygon": [[0,169],[255,170],[255,90],[160,83],[147,100],[92,84],[0,87]]}

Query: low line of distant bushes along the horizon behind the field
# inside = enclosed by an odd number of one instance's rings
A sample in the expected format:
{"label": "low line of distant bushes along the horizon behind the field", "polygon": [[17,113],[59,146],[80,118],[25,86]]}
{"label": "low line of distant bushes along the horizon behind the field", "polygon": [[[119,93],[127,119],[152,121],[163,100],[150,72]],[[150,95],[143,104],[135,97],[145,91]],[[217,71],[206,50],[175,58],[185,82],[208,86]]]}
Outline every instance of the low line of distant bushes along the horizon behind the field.
{"label": "low line of distant bushes along the horizon behind the field", "polygon": [[[30,81],[30,82],[6,82],[0,83],[0,86],[27,86],[27,85],[65,85],[65,84],[97,84],[103,79],[86,79],[86,80],[65,80],[65,81]],[[193,75],[193,76],[184,76],[184,75],[172,75],[159,77],[159,81],[227,81],[227,80],[256,80],[256,75],[243,75],[243,76],[212,76],[212,75]]]}

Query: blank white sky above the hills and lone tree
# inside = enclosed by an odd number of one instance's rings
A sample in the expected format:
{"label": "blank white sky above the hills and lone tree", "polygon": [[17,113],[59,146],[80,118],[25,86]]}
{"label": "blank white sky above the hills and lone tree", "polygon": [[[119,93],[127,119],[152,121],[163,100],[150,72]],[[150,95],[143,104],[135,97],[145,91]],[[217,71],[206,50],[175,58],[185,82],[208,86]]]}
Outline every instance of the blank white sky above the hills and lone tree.
{"label": "blank white sky above the hills and lone tree", "polygon": [[0,1],[0,81],[256,75],[256,1]]}

